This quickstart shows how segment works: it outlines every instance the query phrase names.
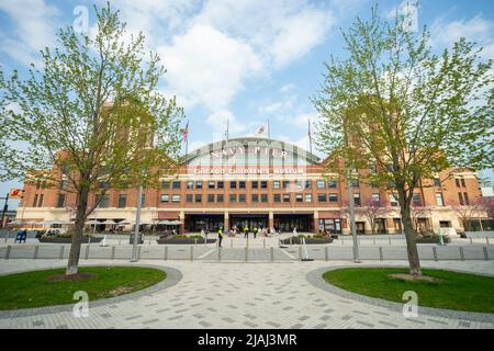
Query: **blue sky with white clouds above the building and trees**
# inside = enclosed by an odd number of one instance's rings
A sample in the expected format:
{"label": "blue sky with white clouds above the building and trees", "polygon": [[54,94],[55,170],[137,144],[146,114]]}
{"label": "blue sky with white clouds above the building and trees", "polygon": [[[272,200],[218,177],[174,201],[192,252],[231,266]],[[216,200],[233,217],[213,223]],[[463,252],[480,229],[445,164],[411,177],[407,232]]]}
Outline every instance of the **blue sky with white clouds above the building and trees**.
{"label": "blue sky with white clouds above the building and trees", "polygon": [[[0,0],[0,65],[25,71],[38,49],[55,45],[58,27],[105,1]],[[130,31],[143,31],[149,48],[168,69],[160,89],[176,94],[190,120],[189,150],[224,135],[254,135],[270,120],[271,137],[308,148],[307,118],[316,117],[310,98],[317,91],[323,63],[341,56],[340,29],[368,18],[379,4],[383,15],[402,1],[368,0],[121,0]],[[76,13],[76,14],[75,14]],[[431,31],[436,49],[461,35],[494,58],[494,1],[423,0],[418,26]],[[492,172],[489,173],[492,177]],[[0,184],[3,195],[15,182]]]}

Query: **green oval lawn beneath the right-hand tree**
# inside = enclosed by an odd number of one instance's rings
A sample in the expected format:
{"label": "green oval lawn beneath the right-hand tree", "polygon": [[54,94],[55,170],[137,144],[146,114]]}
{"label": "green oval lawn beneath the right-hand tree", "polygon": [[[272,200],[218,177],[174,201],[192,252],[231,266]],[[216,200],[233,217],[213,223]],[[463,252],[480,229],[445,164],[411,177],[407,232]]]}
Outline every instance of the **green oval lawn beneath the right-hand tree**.
{"label": "green oval lawn beneath the right-hand tree", "polygon": [[405,291],[415,291],[420,306],[494,313],[494,278],[440,270],[422,272],[442,282],[405,282],[386,276],[408,273],[407,269],[395,268],[345,268],[328,271],[323,278],[340,288],[397,303],[406,302],[402,299]]}

